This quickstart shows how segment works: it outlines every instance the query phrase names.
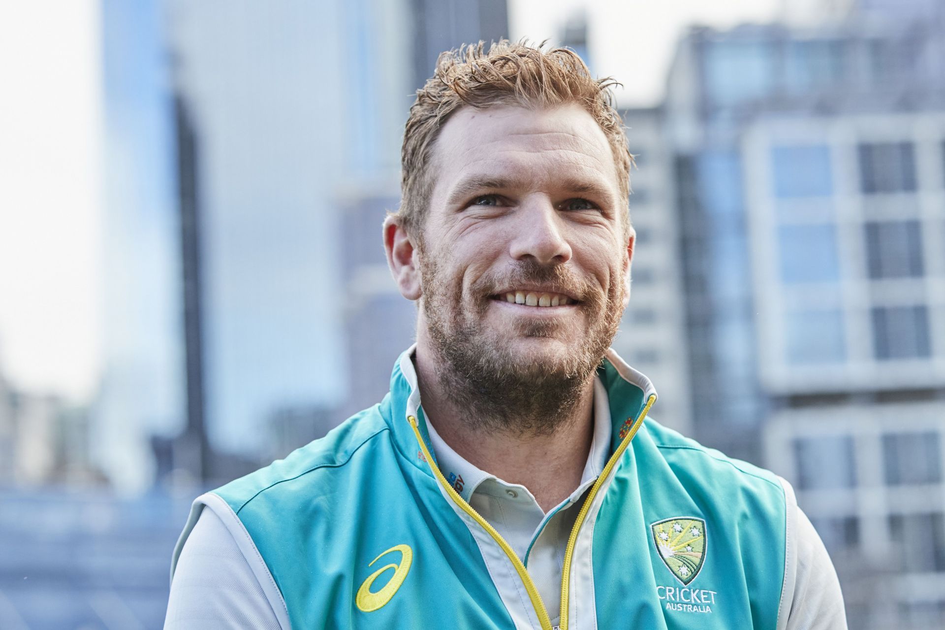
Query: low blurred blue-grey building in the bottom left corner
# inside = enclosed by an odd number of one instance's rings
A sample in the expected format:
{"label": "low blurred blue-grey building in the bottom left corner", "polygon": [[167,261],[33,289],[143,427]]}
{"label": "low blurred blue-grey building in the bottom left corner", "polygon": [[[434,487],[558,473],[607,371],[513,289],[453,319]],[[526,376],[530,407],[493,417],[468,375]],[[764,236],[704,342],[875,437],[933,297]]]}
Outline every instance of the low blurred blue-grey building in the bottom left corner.
{"label": "low blurred blue-grey building in the bottom left corner", "polygon": [[0,489],[0,628],[160,630],[192,500]]}

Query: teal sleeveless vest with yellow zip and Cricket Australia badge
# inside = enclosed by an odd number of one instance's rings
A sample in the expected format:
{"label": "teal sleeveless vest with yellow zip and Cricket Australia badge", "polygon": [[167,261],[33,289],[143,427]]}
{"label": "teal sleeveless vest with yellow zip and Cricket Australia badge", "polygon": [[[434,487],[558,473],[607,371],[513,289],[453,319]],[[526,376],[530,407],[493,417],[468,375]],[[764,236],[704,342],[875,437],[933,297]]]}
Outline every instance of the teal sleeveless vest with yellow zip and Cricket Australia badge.
{"label": "teal sleeveless vest with yellow zip and Cricket Australia badge", "polygon": [[[380,404],[197,510],[248,534],[244,554],[261,554],[295,630],[550,630],[524,563],[433,462],[402,365]],[[611,457],[568,544],[560,627],[783,627],[778,478],[645,419],[656,394],[612,352],[598,376]]]}

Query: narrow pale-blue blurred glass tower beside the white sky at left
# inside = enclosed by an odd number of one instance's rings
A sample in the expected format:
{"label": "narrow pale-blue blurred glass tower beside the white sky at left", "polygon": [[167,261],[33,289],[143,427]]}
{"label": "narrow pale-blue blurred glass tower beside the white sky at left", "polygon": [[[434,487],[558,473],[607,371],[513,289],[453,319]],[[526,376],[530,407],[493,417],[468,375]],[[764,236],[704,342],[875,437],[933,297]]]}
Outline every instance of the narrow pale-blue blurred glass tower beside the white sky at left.
{"label": "narrow pale-blue blurred glass tower beside the white sky at left", "polygon": [[122,492],[154,481],[151,435],[184,420],[173,102],[159,0],[104,0],[103,374],[93,457]]}

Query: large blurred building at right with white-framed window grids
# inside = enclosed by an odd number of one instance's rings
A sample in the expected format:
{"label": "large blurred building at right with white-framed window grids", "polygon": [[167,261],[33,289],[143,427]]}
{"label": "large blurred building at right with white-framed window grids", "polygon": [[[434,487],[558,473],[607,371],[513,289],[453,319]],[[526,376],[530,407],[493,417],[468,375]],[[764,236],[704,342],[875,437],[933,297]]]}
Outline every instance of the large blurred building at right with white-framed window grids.
{"label": "large blurred building at right with white-framed window grids", "polygon": [[945,11],[846,9],[679,45],[693,423],[794,483],[851,627],[942,627]]}

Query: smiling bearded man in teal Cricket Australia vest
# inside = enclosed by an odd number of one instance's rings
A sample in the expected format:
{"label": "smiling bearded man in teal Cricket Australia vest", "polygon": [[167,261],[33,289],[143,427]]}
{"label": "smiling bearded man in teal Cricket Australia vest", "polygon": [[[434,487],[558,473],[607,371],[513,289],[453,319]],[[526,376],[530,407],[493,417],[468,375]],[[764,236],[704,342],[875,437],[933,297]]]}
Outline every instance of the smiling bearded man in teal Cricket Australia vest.
{"label": "smiling bearded man in teal Cricket Australia vest", "polygon": [[195,501],[165,628],[846,627],[790,486],[646,420],[609,350],[634,232],[608,85],[565,49],[440,57],[384,225],[417,342],[379,405]]}

